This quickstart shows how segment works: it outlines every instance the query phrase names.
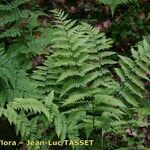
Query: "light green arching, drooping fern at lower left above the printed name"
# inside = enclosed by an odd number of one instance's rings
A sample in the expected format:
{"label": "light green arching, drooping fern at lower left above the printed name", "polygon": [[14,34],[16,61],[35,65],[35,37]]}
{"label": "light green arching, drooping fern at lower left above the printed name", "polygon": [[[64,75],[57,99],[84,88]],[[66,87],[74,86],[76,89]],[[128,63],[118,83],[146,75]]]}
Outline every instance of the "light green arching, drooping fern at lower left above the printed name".
{"label": "light green arching, drooping fern at lower left above the printed name", "polygon": [[[31,118],[30,116],[33,115],[34,117]],[[15,98],[7,104],[6,108],[0,108],[0,117],[5,117],[10,124],[15,125],[16,133],[21,133],[21,140],[40,139],[44,130],[49,127],[49,121],[56,123],[56,129],[62,132],[61,137],[63,140],[65,139],[64,120],[62,120],[63,117],[56,104],[53,103],[53,92],[46,96],[42,102],[37,99]],[[61,121],[59,122],[59,120],[62,120],[62,126],[60,126]],[[40,125],[43,127],[41,128]]]}

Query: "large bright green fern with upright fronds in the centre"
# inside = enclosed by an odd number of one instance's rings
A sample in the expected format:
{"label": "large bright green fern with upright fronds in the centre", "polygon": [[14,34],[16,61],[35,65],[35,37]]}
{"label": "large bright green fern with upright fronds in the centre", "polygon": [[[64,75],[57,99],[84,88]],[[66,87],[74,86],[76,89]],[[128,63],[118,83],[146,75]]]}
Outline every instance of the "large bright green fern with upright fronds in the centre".
{"label": "large bright green fern with upright fronds in the centre", "polygon": [[[116,83],[106,67],[110,63],[116,63],[111,60],[111,56],[115,53],[104,50],[111,47],[112,41],[88,24],[76,25],[74,21],[67,20],[62,11],[53,12],[57,19],[55,21],[57,25],[54,26],[56,31],[51,40],[53,53],[47,57],[44,66],[38,67],[32,78],[37,82],[41,94],[46,95],[47,92],[54,90],[55,101],[62,106],[62,110],[66,110],[62,111],[68,116],[65,124],[62,122],[64,117],[61,114],[56,115],[55,126],[58,137],[64,140],[65,134],[68,133],[69,138],[75,139],[79,136],[79,129],[86,132],[89,127],[93,127],[92,132],[94,128],[101,128],[102,123],[99,120],[106,112],[112,118],[110,122],[114,118],[119,120],[125,115],[120,110],[124,109],[125,105],[113,97]],[[107,101],[101,99],[102,94],[103,98],[109,99]],[[101,104],[106,104],[106,108],[100,107]],[[97,113],[100,116],[97,116]],[[80,117],[77,119],[77,116]],[[85,121],[88,117],[89,124]],[[85,125],[80,127],[80,124]],[[65,131],[61,133],[63,126]]]}

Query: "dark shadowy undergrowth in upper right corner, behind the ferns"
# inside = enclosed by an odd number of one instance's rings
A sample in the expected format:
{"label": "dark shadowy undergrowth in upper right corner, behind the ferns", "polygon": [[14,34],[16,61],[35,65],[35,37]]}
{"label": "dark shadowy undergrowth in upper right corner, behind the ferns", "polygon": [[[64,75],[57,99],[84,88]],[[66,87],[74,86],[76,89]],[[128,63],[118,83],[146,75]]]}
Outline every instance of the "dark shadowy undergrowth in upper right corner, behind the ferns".
{"label": "dark shadowy undergrowth in upper right corner, behind the ferns", "polygon": [[118,53],[130,56],[130,47],[150,33],[148,11],[150,4],[141,2],[139,5],[131,4],[127,8],[124,7],[123,5],[120,9],[116,9],[114,19],[111,20],[111,27],[106,30],[106,35],[113,39]]}

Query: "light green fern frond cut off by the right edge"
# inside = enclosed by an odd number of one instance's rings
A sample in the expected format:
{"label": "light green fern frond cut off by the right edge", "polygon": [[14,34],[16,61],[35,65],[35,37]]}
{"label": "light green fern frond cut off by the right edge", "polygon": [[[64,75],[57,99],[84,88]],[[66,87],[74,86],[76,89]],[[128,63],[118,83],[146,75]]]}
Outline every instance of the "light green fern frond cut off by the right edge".
{"label": "light green fern frond cut off by the right edge", "polygon": [[119,94],[131,105],[138,106],[145,90],[143,80],[150,81],[150,46],[146,40],[137,46],[137,51],[131,49],[133,59],[120,57],[120,68],[116,69],[121,79]]}

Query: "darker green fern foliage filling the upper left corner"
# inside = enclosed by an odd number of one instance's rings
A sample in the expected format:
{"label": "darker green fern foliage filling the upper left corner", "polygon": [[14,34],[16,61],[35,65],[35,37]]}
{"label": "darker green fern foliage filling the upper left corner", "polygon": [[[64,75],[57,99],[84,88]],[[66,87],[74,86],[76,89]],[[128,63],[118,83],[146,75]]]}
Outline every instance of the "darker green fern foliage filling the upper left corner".
{"label": "darker green fern foliage filling the upper left corner", "polygon": [[31,67],[33,57],[44,53],[49,45],[43,35],[36,37],[39,30],[39,16],[45,13],[34,8],[26,8],[29,0],[13,0],[10,3],[0,2],[0,43],[4,45],[7,54],[16,57],[19,65],[26,69]]}

